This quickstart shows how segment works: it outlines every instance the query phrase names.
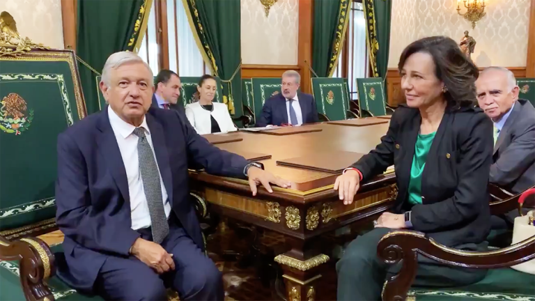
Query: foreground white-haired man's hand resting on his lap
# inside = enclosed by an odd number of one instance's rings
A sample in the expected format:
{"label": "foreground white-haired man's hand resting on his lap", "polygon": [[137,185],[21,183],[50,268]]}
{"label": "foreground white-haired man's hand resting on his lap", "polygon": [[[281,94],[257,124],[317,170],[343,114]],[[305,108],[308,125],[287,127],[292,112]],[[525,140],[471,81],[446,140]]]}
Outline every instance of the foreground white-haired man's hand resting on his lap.
{"label": "foreground white-haired man's hand resting on his lap", "polygon": [[136,256],[160,275],[175,269],[173,254],[167,253],[161,245],[155,242],[138,238],[132,245],[130,254]]}

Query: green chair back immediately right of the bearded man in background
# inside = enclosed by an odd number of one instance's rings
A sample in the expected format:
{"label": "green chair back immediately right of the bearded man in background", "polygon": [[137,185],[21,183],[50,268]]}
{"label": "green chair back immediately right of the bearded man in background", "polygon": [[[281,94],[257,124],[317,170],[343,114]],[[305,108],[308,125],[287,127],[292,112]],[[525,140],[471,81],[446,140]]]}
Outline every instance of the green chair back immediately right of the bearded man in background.
{"label": "green chair back immediately right of the bearded man in background", "polygon": [[345,120],[349,109],[346,80],[336,77],[313,77],[312,93],[318,112],[330,121]]}

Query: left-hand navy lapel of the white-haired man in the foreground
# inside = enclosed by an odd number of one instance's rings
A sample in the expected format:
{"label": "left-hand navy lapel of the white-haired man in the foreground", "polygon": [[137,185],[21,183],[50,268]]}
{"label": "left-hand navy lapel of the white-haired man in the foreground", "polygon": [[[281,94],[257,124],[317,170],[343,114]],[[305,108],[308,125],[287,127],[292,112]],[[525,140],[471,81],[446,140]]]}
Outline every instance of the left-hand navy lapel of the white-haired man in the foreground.
{"label": "left-hand navy lapel of the white-haired man in the foreground", "polygon": [[119,191],[123,195],[123,199],[127,203],[130,203],[125,165],[123,164],[123,157],[121,156],[114,130],[111,129],[109,123],[107,107],[100,112],[100,122],[97,127],[100,130],[100,134],[97,137],[97,146],[100,155],[106,158],[111,176],[113,176]]}

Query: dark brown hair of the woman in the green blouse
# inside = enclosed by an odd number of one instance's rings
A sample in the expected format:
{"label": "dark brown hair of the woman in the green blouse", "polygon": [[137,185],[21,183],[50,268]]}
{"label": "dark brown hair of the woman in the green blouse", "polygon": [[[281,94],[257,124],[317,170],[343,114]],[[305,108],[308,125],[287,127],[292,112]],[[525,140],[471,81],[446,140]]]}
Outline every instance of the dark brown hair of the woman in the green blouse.
{"label": "dark brown hair of the woman in the green blouse", "polygon": [[405,61],[417,52],[431,54],[435,63],[435,76],[447,88],[444,97],[452,108],[474,106],[476,100],[476,79],[479,70],[460,51],[459,45],[445,36],[432,36],[414,41],[401,54],[398,70],[401,72]]}

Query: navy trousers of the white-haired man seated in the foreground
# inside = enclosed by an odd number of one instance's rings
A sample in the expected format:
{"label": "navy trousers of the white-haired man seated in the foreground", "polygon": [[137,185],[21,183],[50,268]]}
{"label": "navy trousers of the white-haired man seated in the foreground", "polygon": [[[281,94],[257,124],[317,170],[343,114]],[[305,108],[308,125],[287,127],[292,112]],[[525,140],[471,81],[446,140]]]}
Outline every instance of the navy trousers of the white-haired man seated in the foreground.
{"label": "navy trousers of the white-haired man seated in the foreground", "polygon": [[[141,238],[152,240],[150,228],[140,229]],[[222,274],[195,244],[171,214],[169,236],[162,247],[173,254],[176,269],[158,275],[135,256],[109,257],[95,281],[104,300],[166,301],[166,288],[178,292],[180,300],[223,301]]]}

